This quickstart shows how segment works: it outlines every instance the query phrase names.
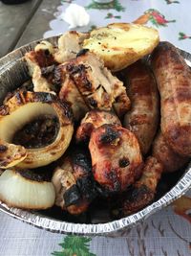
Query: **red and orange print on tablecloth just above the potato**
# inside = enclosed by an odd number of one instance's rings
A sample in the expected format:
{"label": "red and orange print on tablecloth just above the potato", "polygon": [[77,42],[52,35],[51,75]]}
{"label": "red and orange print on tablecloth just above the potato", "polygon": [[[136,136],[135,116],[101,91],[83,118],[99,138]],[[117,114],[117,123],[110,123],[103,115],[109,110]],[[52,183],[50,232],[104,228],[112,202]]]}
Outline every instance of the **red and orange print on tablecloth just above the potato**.
{"label": "red and orange print on tablecloth just above the potato", "polygon": [[143,15],[139,16],[138,19],[134,21],[134,23],[146,24],[149,21],[156,27],[166,27],[168,23],[176,22],[175,19],[167,20],[165,16],[156,9],[149,9],[145,11]]}

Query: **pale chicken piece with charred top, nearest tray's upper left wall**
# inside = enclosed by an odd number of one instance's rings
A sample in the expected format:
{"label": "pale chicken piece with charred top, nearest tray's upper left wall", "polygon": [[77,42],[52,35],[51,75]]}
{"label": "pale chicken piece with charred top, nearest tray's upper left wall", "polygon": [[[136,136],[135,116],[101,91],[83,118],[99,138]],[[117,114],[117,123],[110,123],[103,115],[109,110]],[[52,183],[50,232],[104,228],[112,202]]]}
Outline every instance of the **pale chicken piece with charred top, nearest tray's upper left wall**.
{"label": "pale chicken piece with charred top, nearest tray's upper left wall", "polygon": [[34,51],[25,54],[35,92],[55,94],[53,82],[49,79],[56,64],[53,52],[53,45],[48,41],[42,41],[35,46]]}

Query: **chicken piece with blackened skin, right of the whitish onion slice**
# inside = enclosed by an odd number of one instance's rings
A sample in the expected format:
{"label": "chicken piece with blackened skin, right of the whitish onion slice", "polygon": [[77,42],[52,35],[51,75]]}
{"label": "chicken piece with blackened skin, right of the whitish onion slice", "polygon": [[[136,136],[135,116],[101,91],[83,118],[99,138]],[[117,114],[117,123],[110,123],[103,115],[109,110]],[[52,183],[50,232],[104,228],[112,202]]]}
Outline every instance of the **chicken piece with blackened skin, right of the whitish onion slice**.
{"label": "chicken piece with blackened skin, right of the whitish onion slice", "polygon": [[52,179],[55,188],[55,205],[77,215],[85,212],[96,198],[96,185],[92,175],[91,158],[78,148],[63,159]]}

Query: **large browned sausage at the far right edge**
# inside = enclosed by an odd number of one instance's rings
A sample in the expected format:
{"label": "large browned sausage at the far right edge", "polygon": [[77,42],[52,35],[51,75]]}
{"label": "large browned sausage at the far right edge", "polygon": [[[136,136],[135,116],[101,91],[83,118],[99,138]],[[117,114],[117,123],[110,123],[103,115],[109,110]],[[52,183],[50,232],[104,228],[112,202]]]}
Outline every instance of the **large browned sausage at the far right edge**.
{"label": "large browned sausage at the far right edge", "polygon": [[151,58],[158,81],[161,132],[173,151],[191,156],[191,72],[179,50],[161,42]]}

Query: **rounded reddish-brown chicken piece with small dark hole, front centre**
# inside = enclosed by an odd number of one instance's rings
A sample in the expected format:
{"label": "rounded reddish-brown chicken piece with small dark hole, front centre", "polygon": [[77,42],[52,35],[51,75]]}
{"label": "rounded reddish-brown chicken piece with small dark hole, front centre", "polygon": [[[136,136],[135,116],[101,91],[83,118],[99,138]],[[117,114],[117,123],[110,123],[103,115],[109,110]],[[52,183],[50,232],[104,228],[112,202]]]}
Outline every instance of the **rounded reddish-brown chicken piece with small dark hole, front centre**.
{"label": "rounded reddish-brown chicken piece with small dark hole, front centre", "polygon": [[93,174],[105,191],[125,191],[140,175],[142,157],[138,140],[130,130],[108,124],[96,128],[89,149]]}

